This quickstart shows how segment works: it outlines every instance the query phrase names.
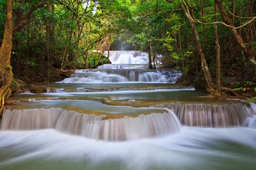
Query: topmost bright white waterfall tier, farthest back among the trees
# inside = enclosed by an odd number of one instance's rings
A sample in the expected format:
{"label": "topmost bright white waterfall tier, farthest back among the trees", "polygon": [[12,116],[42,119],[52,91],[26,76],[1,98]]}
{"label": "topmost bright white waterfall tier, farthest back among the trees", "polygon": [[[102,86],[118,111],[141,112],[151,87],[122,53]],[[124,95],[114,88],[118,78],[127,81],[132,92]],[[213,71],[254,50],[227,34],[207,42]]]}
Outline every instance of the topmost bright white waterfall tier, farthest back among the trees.
{"label": "topmost bright white waterfall tier, farthest back among the trees", "polygon": [[[108,51],[105,51],[108,55]],[[143,51],[109,51],[112,64],[148,64],[148,54]]]}

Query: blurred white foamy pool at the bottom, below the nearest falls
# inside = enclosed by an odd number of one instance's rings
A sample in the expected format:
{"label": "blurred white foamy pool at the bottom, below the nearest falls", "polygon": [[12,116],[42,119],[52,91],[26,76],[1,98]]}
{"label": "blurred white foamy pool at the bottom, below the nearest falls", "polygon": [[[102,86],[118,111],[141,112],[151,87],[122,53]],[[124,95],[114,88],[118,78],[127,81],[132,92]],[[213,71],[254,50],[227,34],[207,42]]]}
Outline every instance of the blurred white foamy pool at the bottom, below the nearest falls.
{"label": "blurred white foamy pool at the bottom, below the nearest falls", "polygon": [[255,170],[256,130],[183,127],[157,139],[103,142],[55,130],[2,131],[1,170]]}

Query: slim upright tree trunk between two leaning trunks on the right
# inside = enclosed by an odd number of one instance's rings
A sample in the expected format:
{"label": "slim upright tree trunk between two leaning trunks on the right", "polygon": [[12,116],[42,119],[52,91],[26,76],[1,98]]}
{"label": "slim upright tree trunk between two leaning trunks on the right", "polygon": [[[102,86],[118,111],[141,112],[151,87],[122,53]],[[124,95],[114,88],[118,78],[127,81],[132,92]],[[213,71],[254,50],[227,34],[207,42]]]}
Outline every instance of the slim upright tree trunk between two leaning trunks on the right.
{"label": "slim upright tree trunk between two leaning trunks on the right", "polygon": [[[218,7],[216,3],[214,4],[215,8],[215,22],[218,21]],[[216,96],[221,96],[221,52],[220,52],[220,44],[218,41],[218,29],[217,24],[214,26],[214,34],[215,34],[215,43],[216,43]]]}

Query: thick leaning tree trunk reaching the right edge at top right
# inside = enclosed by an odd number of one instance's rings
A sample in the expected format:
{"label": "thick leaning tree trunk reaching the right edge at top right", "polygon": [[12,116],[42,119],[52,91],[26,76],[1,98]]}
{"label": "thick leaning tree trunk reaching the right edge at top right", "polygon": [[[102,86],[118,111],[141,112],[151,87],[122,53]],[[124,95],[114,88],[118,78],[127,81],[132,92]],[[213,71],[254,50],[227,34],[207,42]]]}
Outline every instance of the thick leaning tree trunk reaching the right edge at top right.
{"label": "thick leaning tree trunk reaching the right edge at top right", "polygon": [[234,24],[230,20],[230,17],[227,14],[227,11],[226,11],[224,5],[222,4],[222,1],[223,0],[214,0],[214,2],[217,4],[218,9],[221,13],[222,20],[224,21],[224,23],[231,26],[230,31],[231,31],[233,37],[235,37],[236,41],[238,42],[239,46],[241,47],[241,49],[244,53],[244,56],[247,57],[250,60],[250,62],[252,63],[253,69],[254,69],[254,74],[256,76],[256,60],[254,58],[254,55],[250,51],[250,49],[248,49],[247,45],[244,43],[244,41],[243,41],[241,35],[239,34],[239,32],[234,28]]}

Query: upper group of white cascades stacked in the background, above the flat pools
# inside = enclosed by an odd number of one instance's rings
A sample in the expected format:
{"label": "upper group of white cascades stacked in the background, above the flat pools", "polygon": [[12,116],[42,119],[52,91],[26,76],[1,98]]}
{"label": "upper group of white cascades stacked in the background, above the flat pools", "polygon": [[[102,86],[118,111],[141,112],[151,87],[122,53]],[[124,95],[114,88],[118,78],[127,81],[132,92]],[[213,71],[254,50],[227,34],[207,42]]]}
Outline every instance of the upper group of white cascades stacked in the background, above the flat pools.
{"label": "upper group of white cascades stacked in the background, above the flat pools", "polygon": [[171,82],[182,75],[177,70],[149,70],[148,54],[140,51],[110,51],[112,64],[97,69],[77,70],[63,82]]}

